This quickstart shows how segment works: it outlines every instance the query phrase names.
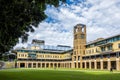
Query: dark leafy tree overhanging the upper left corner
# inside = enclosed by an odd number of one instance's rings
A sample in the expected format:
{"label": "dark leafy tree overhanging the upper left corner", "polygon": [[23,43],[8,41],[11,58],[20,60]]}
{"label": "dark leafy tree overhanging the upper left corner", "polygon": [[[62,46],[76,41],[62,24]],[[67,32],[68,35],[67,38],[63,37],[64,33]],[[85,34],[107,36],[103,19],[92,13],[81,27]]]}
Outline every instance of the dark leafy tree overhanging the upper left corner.
{"label": "dark leafy tree overhanging the upper left corner", "polygon": [[9,51],[19,38],[26,42],[28,32],[34,32],[47,16],[46,5],[57,7],[65,0],[0,0],[0,53]]}

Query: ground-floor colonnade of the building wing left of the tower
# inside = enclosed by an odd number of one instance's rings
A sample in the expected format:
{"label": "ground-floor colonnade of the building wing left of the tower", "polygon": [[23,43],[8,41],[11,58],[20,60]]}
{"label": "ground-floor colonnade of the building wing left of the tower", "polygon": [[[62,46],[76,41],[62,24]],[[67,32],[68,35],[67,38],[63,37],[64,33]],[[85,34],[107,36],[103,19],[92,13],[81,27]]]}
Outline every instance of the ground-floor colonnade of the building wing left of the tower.
{"label": "ground-floor colonnade of the building wing left of the tower", "polygon": [[17,62],[18,68],[71,68],[71,62]]}

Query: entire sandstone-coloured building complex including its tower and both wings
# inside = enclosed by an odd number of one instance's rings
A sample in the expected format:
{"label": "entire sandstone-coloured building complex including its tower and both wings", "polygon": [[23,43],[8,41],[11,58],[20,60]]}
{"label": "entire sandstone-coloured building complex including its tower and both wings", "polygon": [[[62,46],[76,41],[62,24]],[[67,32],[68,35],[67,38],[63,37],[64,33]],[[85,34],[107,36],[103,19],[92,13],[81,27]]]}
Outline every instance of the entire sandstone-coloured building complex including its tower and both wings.
{"label": "entire sandstone-coloured building complex including its tower and both wings", "polygon": [[17,49],[17,67],[120,70],[120,35],[87,43],[86,25],[83,24],[74,27],[73,35],[73,48],[45,45],[44,41],[34,40],[35,44]]}

